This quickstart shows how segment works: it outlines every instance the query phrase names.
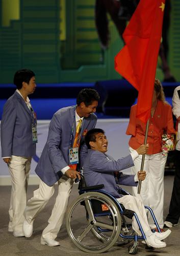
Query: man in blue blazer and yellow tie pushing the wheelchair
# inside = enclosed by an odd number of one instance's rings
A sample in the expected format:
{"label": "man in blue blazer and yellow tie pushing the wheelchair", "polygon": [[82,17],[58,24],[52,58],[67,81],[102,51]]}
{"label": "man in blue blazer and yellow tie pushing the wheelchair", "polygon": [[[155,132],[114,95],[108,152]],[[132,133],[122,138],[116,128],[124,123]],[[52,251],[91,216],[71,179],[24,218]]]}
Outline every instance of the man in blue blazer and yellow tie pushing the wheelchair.
{"label": "man in blue blazer and yellow tie pushing the wheelchair", "polygon": [[[87,155],[84,138],[87,131],[95,127],[98,99],[95,90],[83,89],[78,94],[76,106],[60,109],[50,121],[47,142],[35,169],[41,179],[39,189],[34,191],[24,212],[25,237],[31,237],[33,221],[53,196],[54,184],[58,182],[58,196],[48,225],[42,232],[41,244],[59,245],[55,239],[63,222],[73,179],[80,178],[77,170],[81,169]],[[71,152],[74,152],[73,158]]]}

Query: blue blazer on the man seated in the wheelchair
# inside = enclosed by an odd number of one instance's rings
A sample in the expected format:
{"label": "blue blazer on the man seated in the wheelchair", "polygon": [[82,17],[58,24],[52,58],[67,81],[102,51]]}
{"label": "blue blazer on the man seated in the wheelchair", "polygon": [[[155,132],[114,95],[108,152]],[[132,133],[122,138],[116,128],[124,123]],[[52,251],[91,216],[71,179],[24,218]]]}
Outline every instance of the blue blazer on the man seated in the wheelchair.
{"label": "blue blazer on the man seated in the wheelchair", "polygon": [[[88,155],[83,165],[83,175],[87,186],[104,184],[104,190],[112,196],[122,197],[117,190],[118,186],[114,178],[114,172],[134,166],[131,155],[120,158],[117,161],[111,156],[95,150],[88,150]],[[137,186],[134,180],[135,175],[124,175],[119,173],[118,183],[126,186]]]}

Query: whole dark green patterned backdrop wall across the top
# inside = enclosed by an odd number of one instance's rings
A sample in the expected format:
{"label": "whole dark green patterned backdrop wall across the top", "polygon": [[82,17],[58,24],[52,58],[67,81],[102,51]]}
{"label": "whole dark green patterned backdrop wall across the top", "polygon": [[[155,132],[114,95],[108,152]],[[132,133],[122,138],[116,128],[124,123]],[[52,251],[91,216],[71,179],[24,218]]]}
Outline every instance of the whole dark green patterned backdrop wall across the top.
{"label": "whole dark green patterned backdrop wall across the top", "polygon": [[[180,2],[172,0],[171,4],[169,63],[180,80]],[[105,52],[101,50],[94,22],[95,0],[20,0],[19,5],[19,20],[11,20],[6,27],[0,22],[1,83],[12,82],[20,68],[34,70],[42,83],[120,78],[114,70],[114,56],[123,43],[109,18],[110,44]],[[1,6],[2,0],[0,11]],[[157,76],[163,79],[160,66],[161,61]]]}

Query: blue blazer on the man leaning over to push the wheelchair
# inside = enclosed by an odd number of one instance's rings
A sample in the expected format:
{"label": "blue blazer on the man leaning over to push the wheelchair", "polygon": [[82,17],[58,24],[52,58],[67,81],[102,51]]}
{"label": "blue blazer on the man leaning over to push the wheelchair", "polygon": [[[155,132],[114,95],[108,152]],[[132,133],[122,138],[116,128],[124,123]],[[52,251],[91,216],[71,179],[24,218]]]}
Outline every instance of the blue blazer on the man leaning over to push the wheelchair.
{"label": "blue blazer on the man leaning over to push the wheelchair", "polygon": [[[48,186],[55,184],[63,175],[61,169],[69,165],[69,142],[73,123],[75,127],[74,111],[75,106],[60,109],[50,121],[47,142],[35,169],[36,174]],[[95,114],[83,119],[80,134],[79,169],[81,169],[88,151],[85,144],[85,133],[95,127],[96,121]],[[75,138],[75,130],[73,129],[72,141]]]}

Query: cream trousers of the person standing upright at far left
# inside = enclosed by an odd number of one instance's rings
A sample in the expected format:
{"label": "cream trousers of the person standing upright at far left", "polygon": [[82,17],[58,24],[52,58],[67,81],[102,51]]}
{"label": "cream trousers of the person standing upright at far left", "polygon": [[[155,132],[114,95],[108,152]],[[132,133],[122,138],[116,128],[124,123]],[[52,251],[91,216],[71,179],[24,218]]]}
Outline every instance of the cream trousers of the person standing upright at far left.
{"label": "cream trousers of the person standing upright at far left", "polygon": [[29,173],[31,168],[31,157],[11,156],[8,169],[11,175],[11,199],[9,208],[9,230],[22,232],[24,221],[23,212],[26,206],[26,192]]}

